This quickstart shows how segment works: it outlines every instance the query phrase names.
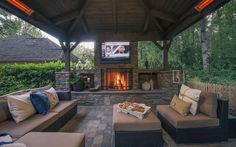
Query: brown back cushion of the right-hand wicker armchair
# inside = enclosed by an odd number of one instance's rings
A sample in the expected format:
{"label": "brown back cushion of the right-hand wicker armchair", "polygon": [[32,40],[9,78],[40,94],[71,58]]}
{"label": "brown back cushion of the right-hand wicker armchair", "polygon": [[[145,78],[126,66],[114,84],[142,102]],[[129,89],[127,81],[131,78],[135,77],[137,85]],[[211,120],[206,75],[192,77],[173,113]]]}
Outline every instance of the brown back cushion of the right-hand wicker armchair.
{"label": "brown back cushion of the right-hand wicker armchair", "polygon": [[217,95],[215,93],[202,92],[199,100],[199,112],[209,117],[217,117]]}

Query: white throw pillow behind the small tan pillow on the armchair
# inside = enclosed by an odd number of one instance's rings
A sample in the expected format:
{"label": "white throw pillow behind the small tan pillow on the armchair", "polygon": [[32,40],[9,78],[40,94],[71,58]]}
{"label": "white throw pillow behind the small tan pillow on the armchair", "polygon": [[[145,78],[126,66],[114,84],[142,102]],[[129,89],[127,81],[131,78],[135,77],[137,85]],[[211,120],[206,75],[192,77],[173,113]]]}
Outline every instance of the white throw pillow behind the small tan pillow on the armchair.
{"label": "white throw pillow behind the small tan pillow on the armchair", "polygon": [[192,89],[184,84],[182,84],[180,92],[179,92],[179,98],[184,100],[185,102],[190,102],[190,112],[195,115],[197,113],[198,108],[198,101],[201,94],[201,90],[198,89]]}

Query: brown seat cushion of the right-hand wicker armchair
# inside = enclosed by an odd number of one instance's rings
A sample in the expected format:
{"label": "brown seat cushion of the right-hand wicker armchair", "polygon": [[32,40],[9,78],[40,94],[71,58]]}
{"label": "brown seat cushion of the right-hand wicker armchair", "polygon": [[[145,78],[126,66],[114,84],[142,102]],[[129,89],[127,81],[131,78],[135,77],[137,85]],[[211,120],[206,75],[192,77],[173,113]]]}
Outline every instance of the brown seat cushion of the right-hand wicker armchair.
{"label": "brown seat cushion of the right-hand wicker armchair", "polygon": [[169,105],[157,106],[157,112],[159,112],[165,119],[167,119],[175,128],[200,128],[219,126],[218,118],[211,118],[202,113],[198,113],[194,116],[182,116],[171,109]]}

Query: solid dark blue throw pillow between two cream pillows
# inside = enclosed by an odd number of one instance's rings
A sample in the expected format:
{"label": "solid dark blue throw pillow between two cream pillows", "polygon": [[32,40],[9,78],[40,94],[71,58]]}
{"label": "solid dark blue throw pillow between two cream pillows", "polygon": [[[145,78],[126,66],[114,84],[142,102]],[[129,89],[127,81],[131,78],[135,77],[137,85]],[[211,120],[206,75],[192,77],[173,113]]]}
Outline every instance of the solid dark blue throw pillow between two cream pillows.
{"label": "solid dark blue throw pillow between two cream pillows", "polygon": [[30,101],[39,114],[47,114],[50,109],[50,102],[46,94],[41,91],[30,94]]}

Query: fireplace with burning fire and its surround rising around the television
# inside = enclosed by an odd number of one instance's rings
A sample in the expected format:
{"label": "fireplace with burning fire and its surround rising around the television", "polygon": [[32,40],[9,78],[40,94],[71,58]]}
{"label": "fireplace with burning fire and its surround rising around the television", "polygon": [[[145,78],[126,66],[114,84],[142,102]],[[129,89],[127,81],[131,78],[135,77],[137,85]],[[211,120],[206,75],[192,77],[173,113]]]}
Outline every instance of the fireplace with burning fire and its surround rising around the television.
{"label": "fireplace with burning fire and its surround rising around the television", "polygon": [[95,76],[101,89],[138,89],[138,50],[137,42],[130,42],[130,61],[128,63],[102,63],[101,42],[95,44]]}

